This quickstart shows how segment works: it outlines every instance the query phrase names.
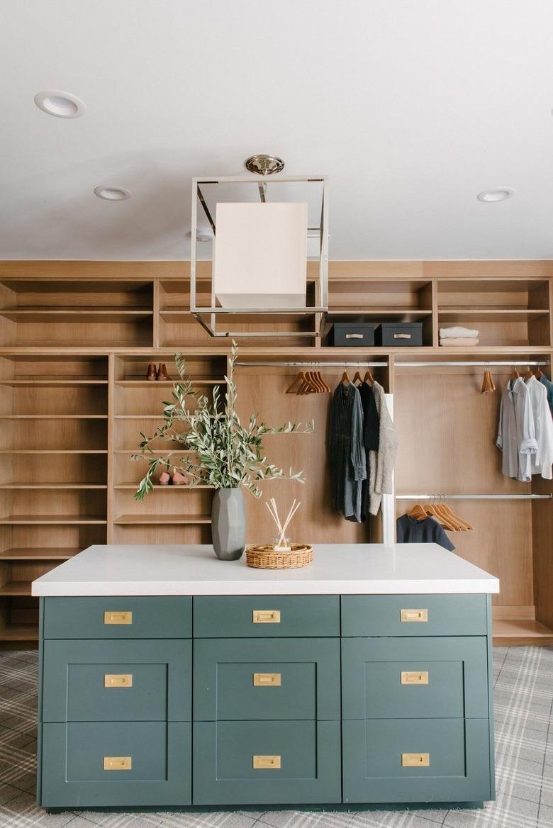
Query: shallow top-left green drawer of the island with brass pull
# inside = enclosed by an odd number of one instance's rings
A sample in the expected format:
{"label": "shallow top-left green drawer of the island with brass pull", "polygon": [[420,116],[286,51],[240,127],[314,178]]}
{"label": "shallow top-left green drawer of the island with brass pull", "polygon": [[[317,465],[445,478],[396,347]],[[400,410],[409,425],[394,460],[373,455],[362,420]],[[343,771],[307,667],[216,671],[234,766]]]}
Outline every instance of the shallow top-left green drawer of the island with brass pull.
{"label": "shallow top-left green drawer of the island with brass pull", "polygon": [[192,599],[45,598],[44,638],[190,638]]}

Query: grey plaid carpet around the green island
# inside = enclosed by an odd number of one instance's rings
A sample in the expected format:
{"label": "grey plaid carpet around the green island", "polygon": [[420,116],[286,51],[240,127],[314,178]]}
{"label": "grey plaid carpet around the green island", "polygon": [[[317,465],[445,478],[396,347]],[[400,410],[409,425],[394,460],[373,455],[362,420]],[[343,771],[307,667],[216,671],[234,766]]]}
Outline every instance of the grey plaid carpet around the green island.
{"label": "grey plaid carpet around the green island", "polygon": [[497,802],[482,811],[46,814],[35,805],[36,653],[0,652],[2,828],[553,828],[553,648],[494,650]]}

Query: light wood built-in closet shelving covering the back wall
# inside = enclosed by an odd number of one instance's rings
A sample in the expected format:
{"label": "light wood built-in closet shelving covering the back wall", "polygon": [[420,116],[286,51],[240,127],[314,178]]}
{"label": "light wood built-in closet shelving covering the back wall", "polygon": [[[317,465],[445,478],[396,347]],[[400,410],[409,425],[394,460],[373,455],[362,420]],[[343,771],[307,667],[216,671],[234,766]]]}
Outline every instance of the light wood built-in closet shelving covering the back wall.
{"label": "light wood built-in closet shelving covering the back wall", "polygon": [[[202,263],[202,268],[207,263]],[[551,483],[503,478],[495,448],[498,392],[482,397],[482,368],[402,368],[430,359],[551,362],[553,262],[331,262],[329,324],[358,315],[420,320],[416,349],[334,349],[305,337],[312,320],[263,320],[291,339],[238,337],[240,362],[383,361],[400,432],[397,493],[551,493]],[[200,277],[204,271],[200,272]],[[170,385],[146,381],[147,363],[188,357],[209,390],[227,368],[229,342],[190,315],[186,262],[0,262],[0,646],[33,646],[31,580],[91,543],[210,541],[209,489],[156,487],[133,498],[144,473],[132,461],[139,431],[153,431]],[[255,330],[252,320],[233,320]],[[440,325],[480,330],[469,352],[438,344]],[[322,368],[334,386],[342,368]],[[353,368],[354,370],[354,368]],[[546,372],[547,373],[547,372]],[[304,469],[305,485],[274,481],[264,494],[296,497],[294,534],[310,542],[380,540],[380,521],[345,521],[329,499],[329,397],[286,395],[296,368],[238,368],[243,416],[267,423],[315,420],[313,435],[267,438],[271,460]],[[272,538],[263,501],[247,495],[252,541]],[[411,505],[397,500],[397,513]],[[459,554],[498,575],[498,643],[553,643],[553,503],[455,501],[474,524],[455,533]]]}

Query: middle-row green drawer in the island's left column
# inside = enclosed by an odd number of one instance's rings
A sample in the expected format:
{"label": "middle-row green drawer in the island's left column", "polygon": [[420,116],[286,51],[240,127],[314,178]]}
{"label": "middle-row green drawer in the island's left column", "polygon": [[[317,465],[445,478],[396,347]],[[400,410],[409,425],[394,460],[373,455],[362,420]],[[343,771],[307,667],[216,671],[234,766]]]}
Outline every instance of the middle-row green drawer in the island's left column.
{"label": "middle-row green drawer in the island's left column", "polygon": [[190,640],[45,641],[42,720],[190,721]]}

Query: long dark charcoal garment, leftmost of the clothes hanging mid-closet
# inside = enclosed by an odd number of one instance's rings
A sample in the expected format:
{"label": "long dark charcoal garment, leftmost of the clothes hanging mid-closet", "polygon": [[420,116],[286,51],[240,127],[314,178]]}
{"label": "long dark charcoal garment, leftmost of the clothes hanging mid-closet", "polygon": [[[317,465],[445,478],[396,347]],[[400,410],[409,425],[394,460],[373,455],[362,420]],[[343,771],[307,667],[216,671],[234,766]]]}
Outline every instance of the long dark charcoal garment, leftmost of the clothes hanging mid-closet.
{"label": "long dark charcoal garment, leftmost of the clothes hanging mid-closet", "polygon": [[332,504],[349,520],[361,521],[361,483],[367,476],[361,397],[353,383],[340,383],[330,404],[329,459]]}

